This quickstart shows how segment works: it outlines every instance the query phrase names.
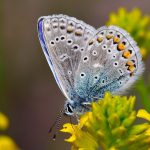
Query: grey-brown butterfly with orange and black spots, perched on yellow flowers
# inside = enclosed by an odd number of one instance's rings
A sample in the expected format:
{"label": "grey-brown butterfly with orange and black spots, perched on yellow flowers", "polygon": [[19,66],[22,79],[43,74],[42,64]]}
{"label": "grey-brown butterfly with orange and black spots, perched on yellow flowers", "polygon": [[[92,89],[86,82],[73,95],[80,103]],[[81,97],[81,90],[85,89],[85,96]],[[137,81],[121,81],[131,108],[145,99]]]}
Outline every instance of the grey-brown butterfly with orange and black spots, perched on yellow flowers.
{"label": "grey-brown butterfly with orange and black spots, perched on yellow flowers", "polygon": [[69,116],[88,111],[106,91],[122,94],[144,70],[136,42],[117,26],[95,29],[67,15],[43,16],[38,36]]}

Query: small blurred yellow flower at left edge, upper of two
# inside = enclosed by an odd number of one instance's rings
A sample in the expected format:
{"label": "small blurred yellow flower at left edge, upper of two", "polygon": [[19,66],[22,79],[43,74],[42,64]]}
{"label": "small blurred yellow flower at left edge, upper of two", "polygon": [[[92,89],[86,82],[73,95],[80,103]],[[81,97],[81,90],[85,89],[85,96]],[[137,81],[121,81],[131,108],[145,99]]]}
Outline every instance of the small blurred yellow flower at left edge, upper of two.
{"label": "small blurred yellow flower at left edge, upper of two", "polygon": [[8,118],[0,112],[0,130],[6,130],[9,126]]}

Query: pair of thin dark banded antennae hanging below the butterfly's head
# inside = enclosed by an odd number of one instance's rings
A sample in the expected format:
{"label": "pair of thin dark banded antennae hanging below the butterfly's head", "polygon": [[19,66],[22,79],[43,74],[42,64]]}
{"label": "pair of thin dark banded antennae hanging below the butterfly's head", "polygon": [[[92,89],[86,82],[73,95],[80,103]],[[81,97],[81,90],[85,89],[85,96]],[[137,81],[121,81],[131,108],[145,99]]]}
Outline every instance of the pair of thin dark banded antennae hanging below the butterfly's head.
{"label": "pair of thin dark banded antennae hanging below the butterfly's head", "polygon": [[52,132],[53,128],[56,127],[56,132],[53,135],[53,140],[56,140],[56,135],[58,133],[58,130],[60,128],[60,123],[61,123],[61,119],[62,119],[62,115],[63,115],[63,111],[61,110],[60,113],[57,115],[57,118],[55,120],[55,122],[52,124],[52,126],[49,129],[49,133]]}

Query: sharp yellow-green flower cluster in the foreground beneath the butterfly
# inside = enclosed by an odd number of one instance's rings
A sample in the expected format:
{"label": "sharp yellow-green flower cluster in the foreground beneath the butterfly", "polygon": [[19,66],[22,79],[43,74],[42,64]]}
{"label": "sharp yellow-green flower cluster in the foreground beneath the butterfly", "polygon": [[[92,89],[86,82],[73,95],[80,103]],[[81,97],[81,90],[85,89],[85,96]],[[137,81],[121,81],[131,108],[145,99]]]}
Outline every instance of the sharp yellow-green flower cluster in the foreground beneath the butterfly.
{"label": "sharp yellow-green flower cluster in the foreground beneath the butterfly", "polygon": [[[77,125],[67,123],[62,132],[72,150],[150,150],[150,114],[134,110],[135,97],[111,96],[92,103],[91,112],[81,116]],[[136,124],[143,118],[144,123]]]}

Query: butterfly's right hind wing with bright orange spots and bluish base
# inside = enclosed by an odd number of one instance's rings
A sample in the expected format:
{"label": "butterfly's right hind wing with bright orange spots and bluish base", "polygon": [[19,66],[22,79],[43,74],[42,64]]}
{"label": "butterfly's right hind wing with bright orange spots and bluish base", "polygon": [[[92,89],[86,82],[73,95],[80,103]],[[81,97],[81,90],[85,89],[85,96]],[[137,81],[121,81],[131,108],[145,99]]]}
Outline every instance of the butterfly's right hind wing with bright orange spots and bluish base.
{"label": "butterfly's right hind wing with bright orange spots and bluish base", "polygon": [[75,90],[87,101],[106,91],[121,94],[143,71],[136,42],[116,26],[101,27],[89,41],[75,75]]}

